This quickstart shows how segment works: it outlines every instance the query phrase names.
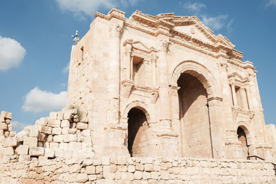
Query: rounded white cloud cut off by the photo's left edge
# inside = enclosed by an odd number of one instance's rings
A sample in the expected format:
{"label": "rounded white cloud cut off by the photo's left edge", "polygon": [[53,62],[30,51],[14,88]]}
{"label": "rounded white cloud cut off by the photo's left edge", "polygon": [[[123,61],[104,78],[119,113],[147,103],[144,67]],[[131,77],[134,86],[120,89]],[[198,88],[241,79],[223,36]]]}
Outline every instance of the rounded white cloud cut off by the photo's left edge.
{"label": "rounded white cloud cut off by the photo's left edge", "polygon": [[25,55],[26,50],[19,42],[0,36],[0,71],[19,66]]}

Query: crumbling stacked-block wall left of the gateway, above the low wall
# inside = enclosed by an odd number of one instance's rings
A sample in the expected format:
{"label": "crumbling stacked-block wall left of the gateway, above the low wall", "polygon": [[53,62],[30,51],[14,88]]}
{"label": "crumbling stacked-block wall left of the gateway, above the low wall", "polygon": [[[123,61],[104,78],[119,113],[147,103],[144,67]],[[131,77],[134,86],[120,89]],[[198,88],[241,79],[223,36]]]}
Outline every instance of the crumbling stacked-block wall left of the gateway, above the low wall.
{"label": "crumbling stacked-block wall left of the gateway, above the low wall", "polygon": [[0,163],[94,156],[88,121],[79,121],[77,109],[50,112],[19,133],[11,131],[11,119],[1,112]]}

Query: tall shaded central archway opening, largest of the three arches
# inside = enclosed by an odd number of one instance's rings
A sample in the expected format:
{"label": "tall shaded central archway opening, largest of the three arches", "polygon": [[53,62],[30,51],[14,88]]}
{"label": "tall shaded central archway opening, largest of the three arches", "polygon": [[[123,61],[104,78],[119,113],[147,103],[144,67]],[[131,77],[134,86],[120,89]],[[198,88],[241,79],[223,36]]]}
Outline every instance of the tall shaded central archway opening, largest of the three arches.
{"label": "tall shaded central archway opening, largest of the three arches", "polygon": [[186,72],[177,80],[183,156],[212,158],[208,94],[197,77]]}

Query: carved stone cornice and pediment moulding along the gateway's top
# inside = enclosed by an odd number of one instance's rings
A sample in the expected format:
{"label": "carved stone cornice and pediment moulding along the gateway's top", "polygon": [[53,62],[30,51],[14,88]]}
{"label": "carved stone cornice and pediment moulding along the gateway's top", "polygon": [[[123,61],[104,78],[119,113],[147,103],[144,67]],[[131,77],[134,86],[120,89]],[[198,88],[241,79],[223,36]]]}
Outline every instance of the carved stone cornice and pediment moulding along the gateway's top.
{"label": "carved stone cornice and pediment moulding along the gateway's top", "polygon": [[[211,57],[224,57],[230,60],[229,63],[232,62],[236,65],[242,65],[242,52],[235,50],[235,45],[233,45],[233,43],[231,43],[226,37],[221,34],[216,36],[213,31],[201,23],[197,17],[180,17],[175,16],[174,13],[158,14],[154,17],[136,11],[129,19],[126,19],[126,17],[124,17],[124,12],[116,9],[110,11],[107,15],[95,13],[95,17],[101,17],[107,20],[115,17],[124,21],[124,25],[128,28],[146,32],[155,37],[159,34],[163,34],[166,37],[169,37],[170,41],[173,43],[208,54]],[[192,37],[191,35],[179,30],[175,30],[176,26],[181,25],[194,25],[195,29],[202,32],[202,34],[210,40],[210,43],[201,41],[200,39]]]}

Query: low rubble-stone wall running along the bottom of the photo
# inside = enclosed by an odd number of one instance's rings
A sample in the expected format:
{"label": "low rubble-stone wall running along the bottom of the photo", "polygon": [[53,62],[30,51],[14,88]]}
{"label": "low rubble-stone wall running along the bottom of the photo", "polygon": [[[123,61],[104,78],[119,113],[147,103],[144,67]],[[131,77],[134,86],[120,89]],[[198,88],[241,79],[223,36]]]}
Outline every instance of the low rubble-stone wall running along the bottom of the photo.
{"label": "low rubble-stone wall running along the bottom of the photo", "polygon": [[210,159],[33,159],[0,165],[0,183],[275,183],[266,161]]}

